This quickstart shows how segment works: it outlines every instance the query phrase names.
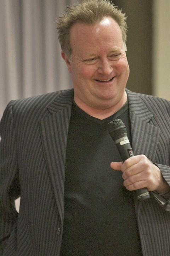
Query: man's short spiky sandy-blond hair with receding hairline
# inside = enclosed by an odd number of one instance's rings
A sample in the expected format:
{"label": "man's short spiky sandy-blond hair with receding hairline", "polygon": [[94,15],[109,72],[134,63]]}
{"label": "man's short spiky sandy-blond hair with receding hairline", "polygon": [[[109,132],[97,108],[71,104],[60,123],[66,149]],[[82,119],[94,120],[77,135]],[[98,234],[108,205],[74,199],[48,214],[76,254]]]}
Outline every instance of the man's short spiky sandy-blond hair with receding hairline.
{"label": "man's short spiky sandy-blond hair with receding hairline", "polygon": [[68,58],[72,54],[70,29],[74,23],[83,22],[93,25],[100,22],[104,17],[112,17],[118,23],[126,49],[127,24],[125,14],[109,0],[83,0],[70,7],[67,6],[64,14],[56,19],[58,40],[62,51]]}

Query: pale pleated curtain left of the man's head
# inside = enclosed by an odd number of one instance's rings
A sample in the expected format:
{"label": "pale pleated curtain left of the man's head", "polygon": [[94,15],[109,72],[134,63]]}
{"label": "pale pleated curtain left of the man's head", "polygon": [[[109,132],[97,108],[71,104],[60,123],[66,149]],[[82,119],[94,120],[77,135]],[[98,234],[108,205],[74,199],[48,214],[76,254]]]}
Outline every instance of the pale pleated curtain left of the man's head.
{"label": "pale pleated curtain left of the man's head", "polygon": [[0,118],[12,99],[72,87],[55,19],[76,0],[0,0]]}

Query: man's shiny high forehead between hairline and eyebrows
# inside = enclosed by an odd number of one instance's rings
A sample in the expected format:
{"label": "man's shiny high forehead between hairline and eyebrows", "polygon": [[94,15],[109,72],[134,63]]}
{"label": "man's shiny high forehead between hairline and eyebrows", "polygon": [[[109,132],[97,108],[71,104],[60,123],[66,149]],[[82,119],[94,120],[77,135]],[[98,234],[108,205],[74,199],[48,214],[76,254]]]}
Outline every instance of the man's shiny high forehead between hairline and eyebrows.
{"label": "man's shiny high forehead between hairline and eyebrows", "polygon": [[72,50],[88,50],[92,48],[122,48],[123,39],[118,23],[111,17],[105,17],[102,21],[93,25],[82,22],[75,23],[70,31],[70,43]]}

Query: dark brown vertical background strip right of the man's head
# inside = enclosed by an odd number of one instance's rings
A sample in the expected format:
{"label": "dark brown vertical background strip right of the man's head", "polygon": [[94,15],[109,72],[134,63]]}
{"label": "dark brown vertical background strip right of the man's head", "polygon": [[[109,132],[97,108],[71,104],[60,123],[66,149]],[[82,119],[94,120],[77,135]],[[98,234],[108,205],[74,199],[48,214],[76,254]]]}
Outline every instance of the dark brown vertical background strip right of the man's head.
{"label": "dark brown vertical background strip right of the man's head", "polygon": [[152,0],[112,0],[128,16],[127,88],[152,94]]}

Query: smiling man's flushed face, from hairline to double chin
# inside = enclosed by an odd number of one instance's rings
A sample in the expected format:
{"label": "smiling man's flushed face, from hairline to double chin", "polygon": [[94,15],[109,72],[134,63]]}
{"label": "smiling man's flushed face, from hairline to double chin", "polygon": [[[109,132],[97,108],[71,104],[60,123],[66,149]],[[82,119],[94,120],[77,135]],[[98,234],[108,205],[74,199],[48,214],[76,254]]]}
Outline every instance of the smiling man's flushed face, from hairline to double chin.
{"label": "smiling man's flushed face, from hairline to double chin", "polygon": [[63,52],[62,57],[72,73],[77,105],[105,109],[119,104],[125,97],[129,65],[117,22],[105,17],[95,25],[75,23],[70,43],[71,60]]}

